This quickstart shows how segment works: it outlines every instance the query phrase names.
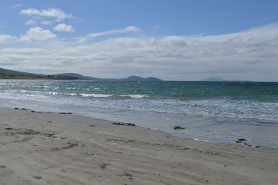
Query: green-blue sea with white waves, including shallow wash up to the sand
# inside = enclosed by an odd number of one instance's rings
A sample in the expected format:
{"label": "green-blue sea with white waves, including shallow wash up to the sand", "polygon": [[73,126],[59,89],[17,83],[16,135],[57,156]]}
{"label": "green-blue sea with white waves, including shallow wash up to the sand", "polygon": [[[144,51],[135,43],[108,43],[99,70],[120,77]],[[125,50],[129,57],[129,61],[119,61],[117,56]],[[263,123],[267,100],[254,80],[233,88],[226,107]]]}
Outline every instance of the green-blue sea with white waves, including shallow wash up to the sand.
{"label": "green-blue sea with white waves, including shallow wash up to the sand", "polygon": [[248,145],[278,147],[275,82],[1,79],[0,106],[132,122],[195,140],[245,138]]}

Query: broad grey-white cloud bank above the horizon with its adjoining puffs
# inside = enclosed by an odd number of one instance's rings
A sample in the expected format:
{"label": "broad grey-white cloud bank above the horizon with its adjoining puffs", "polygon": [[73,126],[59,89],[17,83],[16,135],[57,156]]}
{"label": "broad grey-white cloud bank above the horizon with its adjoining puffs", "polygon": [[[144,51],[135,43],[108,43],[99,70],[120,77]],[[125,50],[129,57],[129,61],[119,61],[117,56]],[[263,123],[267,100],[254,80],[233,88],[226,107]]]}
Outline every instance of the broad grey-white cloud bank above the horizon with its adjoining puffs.
{"label": "broad grey-white cloud bank above the horizon with its adjoining puffs", "polygon": [[[128,26],[88,36],[133,31],[140,29]],[[0,35],[0,42],[9,39],[9,35]],[[46,73],[115,78],[137,74],[169,80],[199,80],[218,74],[226,79],[278,81],[278,23],[224,35],[117,37],[81,44],[58,40],[51,31],[34,27],[19,40],[38,44],[0,49],[1,61],[29,72],[44,69]]]}

